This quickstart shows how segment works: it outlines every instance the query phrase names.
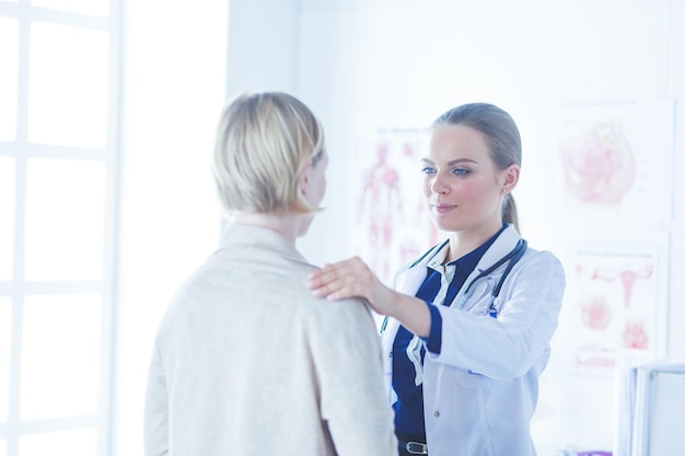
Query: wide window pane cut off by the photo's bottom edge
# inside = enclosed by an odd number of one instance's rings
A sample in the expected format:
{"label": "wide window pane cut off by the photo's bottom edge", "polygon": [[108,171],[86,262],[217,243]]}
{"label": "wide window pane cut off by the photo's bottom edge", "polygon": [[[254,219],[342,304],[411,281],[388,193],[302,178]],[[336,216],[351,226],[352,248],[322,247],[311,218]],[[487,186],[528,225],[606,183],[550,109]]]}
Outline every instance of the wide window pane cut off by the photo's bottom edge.
{"label": "wide window pane cut off by the photo's bottom edge", "polygon": [[19,456],[94,456],[96,452],[94,429],[25,435],[19,440]]}

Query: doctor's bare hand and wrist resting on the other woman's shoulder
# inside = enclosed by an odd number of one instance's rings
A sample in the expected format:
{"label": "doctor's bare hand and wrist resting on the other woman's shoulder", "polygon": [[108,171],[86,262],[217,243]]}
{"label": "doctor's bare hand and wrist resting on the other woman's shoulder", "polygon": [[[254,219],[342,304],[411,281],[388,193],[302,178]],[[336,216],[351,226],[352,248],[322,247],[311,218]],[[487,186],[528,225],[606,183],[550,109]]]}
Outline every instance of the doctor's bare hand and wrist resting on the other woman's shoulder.
{"label": "doctor's bare hand and wrist resting on the other woman's shoulder", "polygon": [[332,301],[361,297],[374,312],[398,319],[417,336],[426,337],[430,332],[430,311],[426,303],[384,285],[357,256],[327,264],[313,272],[309,288],[314,295]]}

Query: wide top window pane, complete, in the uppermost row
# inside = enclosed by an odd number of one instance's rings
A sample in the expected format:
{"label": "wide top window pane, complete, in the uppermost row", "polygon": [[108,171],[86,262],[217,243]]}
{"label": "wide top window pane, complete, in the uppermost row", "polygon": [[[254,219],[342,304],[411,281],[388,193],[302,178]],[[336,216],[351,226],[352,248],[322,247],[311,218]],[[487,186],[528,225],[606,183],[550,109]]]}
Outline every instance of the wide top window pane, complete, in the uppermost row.
{"label": "wide top window pane, complete, in the uppermost row", "polygon": [[34,23],[28,141],[101,148],[107,124],[107,34]]}

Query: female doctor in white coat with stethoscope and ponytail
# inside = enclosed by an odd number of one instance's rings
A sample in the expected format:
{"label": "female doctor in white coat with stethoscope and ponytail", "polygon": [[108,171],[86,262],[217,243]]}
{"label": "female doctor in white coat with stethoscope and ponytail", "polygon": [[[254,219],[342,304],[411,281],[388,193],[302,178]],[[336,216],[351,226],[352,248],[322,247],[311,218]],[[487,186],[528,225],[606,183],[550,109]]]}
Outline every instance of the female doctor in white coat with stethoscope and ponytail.
{"label": "female doctor in white coat with stethoscope and ponytail", "polygon": [[399,455],[535,455],[530,421],[565,288],[559,260],[519,235],[511,191],[521,137],[497,106],[455,107],[420,162],[426,206],[448,238],[392,288],[355,257],[310,277],[315,295],[365,299],[382,326]]}

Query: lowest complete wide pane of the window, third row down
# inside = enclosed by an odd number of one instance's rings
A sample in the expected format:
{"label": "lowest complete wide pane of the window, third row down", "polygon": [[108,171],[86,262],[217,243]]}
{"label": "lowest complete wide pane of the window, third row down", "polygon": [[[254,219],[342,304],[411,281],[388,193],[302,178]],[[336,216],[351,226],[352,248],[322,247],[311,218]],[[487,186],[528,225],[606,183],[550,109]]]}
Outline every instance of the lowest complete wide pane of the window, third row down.
{"label": "lowest complete wide pane of the window, third row down", "polygon": [[100,295],[26,296],[23,323],[21,419],[96,412]]}

